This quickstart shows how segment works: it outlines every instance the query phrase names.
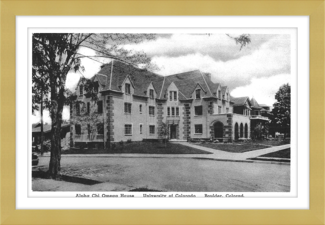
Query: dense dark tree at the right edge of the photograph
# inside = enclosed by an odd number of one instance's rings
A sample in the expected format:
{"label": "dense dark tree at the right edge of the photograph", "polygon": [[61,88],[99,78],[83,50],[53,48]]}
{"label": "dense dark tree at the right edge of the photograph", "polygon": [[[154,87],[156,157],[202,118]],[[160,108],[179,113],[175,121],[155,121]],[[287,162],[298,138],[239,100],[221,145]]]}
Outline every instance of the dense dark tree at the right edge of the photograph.
{"label": "dense dark tree at the right edge of the photograph", "polygon": [[288,83],[281,85],[275,99],[270,125],[275,131],[283,133],[285,138],[290,133],[291,86]]}

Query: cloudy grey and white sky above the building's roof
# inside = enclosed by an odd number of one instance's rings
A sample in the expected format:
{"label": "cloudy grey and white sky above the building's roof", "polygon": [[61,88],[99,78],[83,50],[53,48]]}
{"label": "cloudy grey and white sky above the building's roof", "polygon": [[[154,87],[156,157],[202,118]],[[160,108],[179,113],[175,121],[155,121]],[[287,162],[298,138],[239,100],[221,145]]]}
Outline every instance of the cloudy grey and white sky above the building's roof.
{"label": "cloudy grey and white sky above the building's roof", "polygon": [[[240,34],[229,34],[232,37]],[[157,34],[151,41],[127,44],[126,49],[143,50],[158,65],[153,72],[171,75],[200,69],[210,72],[213,82],[228,86],[233,97],[252,96],[258,103],[272,106],[275,92],[283,83],[290,83],[290,35],[250,34],[251,42],[241,48],[225,33],[219,34]],[[85,54],[93,51],[81,48]],[[109,62],[104,59],[103,63]],[[100,70],[101,63],[82,58],[82,74],[89,78]],[[66,86],[74,89],[81,74],[69,72]],[[63,109],[63,119],[69,118],[69,109]],[[39,121],[39,113],[32,122]],[[48,112],[44,121],[50,122]]]}

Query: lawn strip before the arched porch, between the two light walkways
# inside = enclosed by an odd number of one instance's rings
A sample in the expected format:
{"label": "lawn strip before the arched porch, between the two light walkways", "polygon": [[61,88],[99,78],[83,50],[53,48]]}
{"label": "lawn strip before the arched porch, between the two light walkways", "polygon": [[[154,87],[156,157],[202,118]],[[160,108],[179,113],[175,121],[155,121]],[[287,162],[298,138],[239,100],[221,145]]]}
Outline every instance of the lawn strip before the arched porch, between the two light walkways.
{"label": "lawn strip before the arched porch, between the two light walkways", "polygon": [[213,148],[213,149],[217,149],[217,150],[221,150],[221,151],[235,152],[235,153],[242,153],[242,152],[246,152],[246,151],[252,151],[252,150],[269,147],[269,146],[260,145],[260,144],[253,144],[252,142],[245,142],[245,143],[240,143],[240,144],[204,143],[204,144],[197,144],[197,145],[203,146],[203,147],[209,147],[209,148]]}

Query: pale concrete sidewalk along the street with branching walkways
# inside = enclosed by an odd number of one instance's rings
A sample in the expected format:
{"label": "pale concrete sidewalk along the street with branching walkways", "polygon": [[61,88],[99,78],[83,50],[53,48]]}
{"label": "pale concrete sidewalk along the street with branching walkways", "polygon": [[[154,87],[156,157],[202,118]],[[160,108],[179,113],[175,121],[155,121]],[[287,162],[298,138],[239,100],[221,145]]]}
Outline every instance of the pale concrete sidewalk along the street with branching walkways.
{"label": "pale concrete sidewalk along the street with branching walkways", "polygon": [[[257,149],[243,153],[227,152],[200,146],[199,144],[191,144],[188,142],[173,142],[185,146],[197,148],[200,150],[211,152],[212,154],[138,154],[138,153],[115,153],[115,154],[62,154],[61,157],[182,157],[182,158],[198,158],[198,159],[212,159],[222,161],[242,161],[242,162],[258,162],[258,163],[277,163],[277,164],[290,164],[289,162],[274,162],[274,161],[254,161],[246,158],[257,157],[262,154],[282,150],[290,147],[290,144],[274,146],[269,148]],[[46,152],[39,157],[49,157],[50,153]]]}

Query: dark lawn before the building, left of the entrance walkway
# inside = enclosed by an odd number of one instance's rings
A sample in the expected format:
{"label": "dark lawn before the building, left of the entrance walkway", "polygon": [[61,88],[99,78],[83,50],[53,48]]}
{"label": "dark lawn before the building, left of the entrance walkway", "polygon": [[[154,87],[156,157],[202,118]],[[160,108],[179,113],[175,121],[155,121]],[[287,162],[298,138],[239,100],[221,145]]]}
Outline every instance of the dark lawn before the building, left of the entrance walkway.
{"label": "dark lawn before the building, left of the entrance walkway", "polygon": [[113,153],[142,153],[142,154],[211,154],[211,152],[188,147],[177,143],[132,142],[119,144],[106,149],[77,149],[72,148],[62,151],[62,154],[113,154]]}

